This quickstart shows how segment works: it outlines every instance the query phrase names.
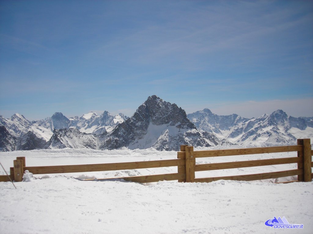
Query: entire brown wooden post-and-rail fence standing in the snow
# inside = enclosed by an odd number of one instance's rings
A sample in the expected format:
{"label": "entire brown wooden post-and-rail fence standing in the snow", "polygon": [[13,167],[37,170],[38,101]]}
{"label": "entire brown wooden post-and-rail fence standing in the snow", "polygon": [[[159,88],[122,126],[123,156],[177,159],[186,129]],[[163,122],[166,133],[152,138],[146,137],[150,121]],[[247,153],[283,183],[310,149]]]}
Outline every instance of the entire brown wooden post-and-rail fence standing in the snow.
{"label": "entire brown wooden post-and-rail fence standing in the snow", "polygon": [[[313,151],[311,150],[310,139],[298,139],[297,143],[298,143],[297,145],[293,146],[276,146],[276,147],[247,148],[247,149],[221,149],[206,151],[193,151],[193,146],[182,145],[181,151],[177,152],[177,159],[144,161],[144,162],[127,162],[127,163],[102,163],[102,164],[84,164],[84,165],[28,167],[26,166],[25,157],[17,157],[16,160],[13,160],[14,167],[10,168],[9,177],[15,182],[20,182],[23,180],[23,173],[25,170],[28,170],[33,174],[52,174],[52,173],[115,171],[126,169],[129,170],[129,169],[177,166],[177,173],[123,177],[122,179],[139,183],[157,182],[161,180],[178,180],[178,182],[212,182],[221,179],[251,181],[297,175],[298,181],[309,182],[313,177],[312,176],[313,173],[311,173],[311,167],[313,167],[311,156],[313,155]],[[196,164],[196,158],[247,155],[247,154],[267,154],[281,152],[297,152],[297,157],[271,158],[271,159],[248,160],[226,163]],[[289,163],[297,163],[298,165],[297,169],[250,175],[195,178],[195,172],[198,171],[268,166]],[[6,175],[0,176],[0,182],[7,181],[9,181],[8,176]]]}

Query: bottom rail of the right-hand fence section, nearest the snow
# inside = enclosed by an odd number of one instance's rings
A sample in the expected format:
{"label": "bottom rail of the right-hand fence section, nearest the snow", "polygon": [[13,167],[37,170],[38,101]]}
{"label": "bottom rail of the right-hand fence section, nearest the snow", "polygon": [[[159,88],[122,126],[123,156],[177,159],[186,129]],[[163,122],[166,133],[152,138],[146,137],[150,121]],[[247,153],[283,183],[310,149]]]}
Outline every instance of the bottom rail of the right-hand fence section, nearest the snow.
{"label": "bottom rail of the right-hand fence section, nearest the snow", "polygon": [[212,182],[212,181],[217,181],[217,180],[252,181],[252,180],[263,180],[263,179],[272,179],[272,178],[279,178],[279,177],[294,176],[294,175],[300,175],[302,173],[303,173],[303,170],[295,169],[295,170],[260,173],[260,174],[221,176],[221,177],[210,177],[210,178],[196,178],[195,182]]}

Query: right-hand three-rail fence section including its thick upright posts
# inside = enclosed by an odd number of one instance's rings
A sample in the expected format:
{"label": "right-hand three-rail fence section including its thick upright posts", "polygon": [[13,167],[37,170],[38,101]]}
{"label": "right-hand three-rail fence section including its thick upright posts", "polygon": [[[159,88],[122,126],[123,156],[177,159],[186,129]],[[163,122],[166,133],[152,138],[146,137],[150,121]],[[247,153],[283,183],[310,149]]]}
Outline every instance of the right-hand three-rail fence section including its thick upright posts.
{"label": "right-hand three-rail fence section including its thick upright posts", "polygon": [[[270,154],[282,152],[297,152],[297,157],[289,158],[271,158],[260,160],[248,160],[239,162],[226,162],[226,163],[208,163],[196,164],[195,158],[206,157],[221,157],[221,156],[235,156],[235,155],[249,155],[249,154]],[[181,151],[177,153],[177,158],[185,158],[186,160],[186,180],[183,182],[212,182],[216,180],[262,180],[273,179],[288,176],[298,176],[298,181],[311,181],[313,167],[310,139],[298,139],[297,145],[293,146],[275,146],[275,147],[260,147],[260,148],[246,148],[246,149],[222,149],[222,150],[202,150],[193,151],[192,146],[182,145]],[[259,167],[279,164],[297,163],[297,169],[268,172],[249,175],[233,175],[222,177],[209,177],[209,178],[195,178],[195,172],[211,171],[221,169],[233,168],[246,168],[246,167]],[[181,168],[183,170],[183,168]],[[178,167],[179,171],[179,167]]]}

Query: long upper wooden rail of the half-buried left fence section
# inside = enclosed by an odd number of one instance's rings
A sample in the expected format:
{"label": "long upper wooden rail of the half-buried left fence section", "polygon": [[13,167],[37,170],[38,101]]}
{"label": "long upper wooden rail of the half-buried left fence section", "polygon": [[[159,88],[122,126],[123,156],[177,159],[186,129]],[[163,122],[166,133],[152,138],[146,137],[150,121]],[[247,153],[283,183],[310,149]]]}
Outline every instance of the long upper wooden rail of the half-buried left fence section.
{"label": "long upper wooden rail of the half-buried left fence section", "polygon": [[174,167],[185,165],[184,159],[168,159],[158,161],[128,162],[128,163],[102,163],[86,165],[63,165],[63,166],[43,166],[24,167],[33,174],[53,174],[53,173],[76,173],[94,171],[114,171],[142,168]]}

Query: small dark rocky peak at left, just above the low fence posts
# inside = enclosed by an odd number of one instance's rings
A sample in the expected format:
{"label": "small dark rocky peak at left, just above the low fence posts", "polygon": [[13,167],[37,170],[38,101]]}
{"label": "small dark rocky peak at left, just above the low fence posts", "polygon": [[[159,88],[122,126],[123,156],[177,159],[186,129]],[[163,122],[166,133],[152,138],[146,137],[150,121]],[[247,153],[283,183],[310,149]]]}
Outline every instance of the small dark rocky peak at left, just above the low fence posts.
{"label": "small dark rocky peak at left, just above the low fence posts", "polygon": [[47,142],[29,131],[18,139],[17,150],[45,149]]}

